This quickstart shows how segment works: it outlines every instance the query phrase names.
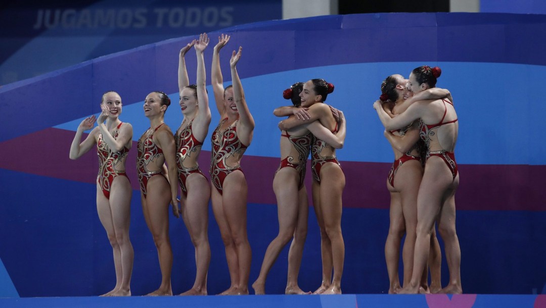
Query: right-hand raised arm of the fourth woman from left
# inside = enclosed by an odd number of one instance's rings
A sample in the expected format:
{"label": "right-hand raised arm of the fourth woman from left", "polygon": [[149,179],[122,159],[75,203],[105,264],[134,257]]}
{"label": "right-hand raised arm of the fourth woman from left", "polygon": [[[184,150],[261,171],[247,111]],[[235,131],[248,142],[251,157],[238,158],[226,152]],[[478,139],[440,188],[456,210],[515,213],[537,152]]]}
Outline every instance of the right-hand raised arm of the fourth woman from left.
{"label": "right-hand raised arm of the fourth woman from left", "polygon": [[229,61],[229,67],[232,71],[233,99],[235,100],[235,106],[237,106],[237,110],[239,112],[239,122],[237,125],[246,131],[248,136],[250,136],[250,140],[248,140],[248,143],[246,143],[250,144],[250,141],[252,140],[252,131],[254,130],[254,118],[252,118],[252,114],[250,113],[250,110],[248,110],[245,99],[245,91],[242,89],[241,80],[239,79],[239,74],[237,73],[237,63],[241,59],[241,55],[242,47],[239,47],[239,51],[237,53],[235,53],[234,50],[232,53],[232,58]]}

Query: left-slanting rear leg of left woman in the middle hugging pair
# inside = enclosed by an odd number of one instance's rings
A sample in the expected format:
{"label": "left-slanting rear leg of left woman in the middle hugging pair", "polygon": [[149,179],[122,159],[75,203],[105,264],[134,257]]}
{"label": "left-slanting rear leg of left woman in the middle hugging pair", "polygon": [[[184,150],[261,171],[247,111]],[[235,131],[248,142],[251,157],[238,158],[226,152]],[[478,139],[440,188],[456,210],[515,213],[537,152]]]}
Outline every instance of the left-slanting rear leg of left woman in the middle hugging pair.
{"label": "left-slanting rear leg of left woman in the middle hugging pair", "polygon": [[273,180],[273,190],[277,197],[278,234],[265,251],[258,279],[252,283],[257,295],[265,294],[265,280],[269,270],[294,235],[298,221],[298,177],[294,168],[282,168]]}

